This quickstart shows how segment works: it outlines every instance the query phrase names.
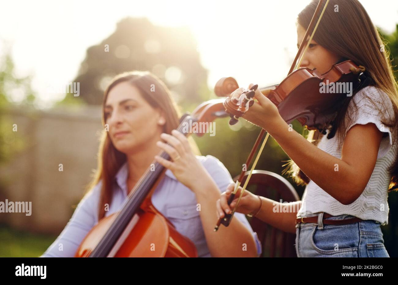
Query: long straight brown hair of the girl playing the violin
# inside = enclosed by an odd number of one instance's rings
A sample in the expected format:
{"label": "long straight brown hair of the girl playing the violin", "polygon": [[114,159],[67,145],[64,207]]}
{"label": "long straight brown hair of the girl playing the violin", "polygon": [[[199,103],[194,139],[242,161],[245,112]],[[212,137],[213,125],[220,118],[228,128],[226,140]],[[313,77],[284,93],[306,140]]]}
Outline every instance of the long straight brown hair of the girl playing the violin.
{"label": "long straight brown hair of the girl playing the violin", "polygon": [[[304,29],[307,29],[318,3],[319,0],[312,0],[298,14],[297,22]],[[392,72],[389,51],[386,48],[383,49],[386,45],[361,3],[357,0],[330,0],[313,39],[322,47],[339,55],[341,59],[351,59],[356,64],[365,66],[365,75],[370,79],[367,85],[380,88],[388,95],[394,107],[394,116],[387,117],[387,114],[383,114],[382,123],[391,127],[394,147],[398,133],[397,82]],[[347,125],[353,121],[348,103],[365,86],[361,86],[351,97],[347,97],[328,134],[328,138],[332,138],[335,134],[338,135],[339,148],[343,144]],[[321,138],[322,134],[319,131],[310,131],[307,136],[308,141],[314,144],[317,144]],[[287,173],[291,174],[295,182],[298,184],[309,183],[309,178],[292,160],[289,164],[290,169],[287,170]],[[389,172],[392,178],[388,191],[397,190],[398,156]]]}

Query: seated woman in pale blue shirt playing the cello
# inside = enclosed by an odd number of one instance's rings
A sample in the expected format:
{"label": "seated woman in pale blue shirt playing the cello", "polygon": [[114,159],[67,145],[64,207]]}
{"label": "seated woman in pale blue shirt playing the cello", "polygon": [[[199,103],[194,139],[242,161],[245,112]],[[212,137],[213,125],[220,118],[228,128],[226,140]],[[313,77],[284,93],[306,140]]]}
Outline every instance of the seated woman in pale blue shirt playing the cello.
{"label": "seated woman in pale blue shirt playing the cello", "polygon": [[[119,74],[105,90],[102,111],[109,131],[102,134],[96,178],[43,256],[74,256],[100,219],[120,211],[154,159],[168,170],[152,194],[152,204],[195,244],[199,257],[261,253],[257,234],[243,214],[231,228],[213,232],[220,189],[226,189],[232,178],[214,156],[195,155],[199,150],[193,140],[176,131],[178,109],[163,82],[149,72]],[[172,161],[157,156],[161,150]]]}

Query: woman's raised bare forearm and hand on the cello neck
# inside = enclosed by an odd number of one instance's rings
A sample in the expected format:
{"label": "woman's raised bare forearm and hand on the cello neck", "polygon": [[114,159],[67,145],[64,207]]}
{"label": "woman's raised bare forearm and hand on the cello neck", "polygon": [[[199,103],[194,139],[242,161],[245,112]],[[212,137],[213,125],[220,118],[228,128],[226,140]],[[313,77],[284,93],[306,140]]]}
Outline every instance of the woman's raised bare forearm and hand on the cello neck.
{"label": "woman's raised bare forearm and hand on the cello neck", "polygon": [[[214,232],[214,225],[217,222],[214,213],[216,201],[220,197],[220,189],[211,174],[193,154],[187,138],[175,130],[172,131],[172,135],[162,134],[161,138],[170,145],[160,141],[157,145],[170,155],[172,161],[159,156],[155,156],[155,159],[164,167],[170,169],[179,182],[195,193],[196,203],[201,207],[199,213],[211,256],[258,256],[256,241],[251,230],[239,219],[233,219],[228,229],[223,228],[217,233]],[[215,173],[214,170],[213,168],[213,174]],[[226,177],[224,176],[222,179],[226,179]],[[226,240],[228,242],[225,242]],[[247,249],[242,250],[242,244],[246,244]]]}

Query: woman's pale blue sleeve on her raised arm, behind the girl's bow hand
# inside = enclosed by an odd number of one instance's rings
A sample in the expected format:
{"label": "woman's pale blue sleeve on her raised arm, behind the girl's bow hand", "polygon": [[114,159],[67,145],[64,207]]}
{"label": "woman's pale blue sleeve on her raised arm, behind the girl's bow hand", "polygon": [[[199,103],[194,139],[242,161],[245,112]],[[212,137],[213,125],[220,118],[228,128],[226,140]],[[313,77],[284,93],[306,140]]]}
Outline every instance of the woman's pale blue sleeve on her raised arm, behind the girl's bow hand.
{"label": "woman's pale blue sleeve on her raised arm, behind the girl's bow hand", "polygon": [[[224,164],[220,162],[218,158],[214,156],[207,155],[204,165],[209,172],[210,176],[216,182],[217,186],[219,187],[221,193],[226,190],[226,187],[233,182],[231,174],[228,172]],[[246,219],[246,216],[242,213],[235,213],[234,218],[238,219],[242,222],[246,228],[252,232],[254,241],[256,243],[257,254],[260,255],[262,252],[261,242],[258,239],[257,233],[253,231],[252,226],[250,226],[249,221]]]}

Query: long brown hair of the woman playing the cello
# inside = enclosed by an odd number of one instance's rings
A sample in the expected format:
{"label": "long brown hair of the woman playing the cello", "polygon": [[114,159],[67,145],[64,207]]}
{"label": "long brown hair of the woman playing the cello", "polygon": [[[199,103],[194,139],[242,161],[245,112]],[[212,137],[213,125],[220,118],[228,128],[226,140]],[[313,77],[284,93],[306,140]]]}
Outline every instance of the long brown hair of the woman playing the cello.
{"label": "long brown hair of the woman playing the cello", "polygon": [[[100,200],[98,203],[98,220],[105,215],[105,204],[110,204],[113,196],[113,183],[115,182],[115,175],[119,168],[126,162],[126,155],[113,146],[109,139],[109,132],[105,131],[105,102],[109,91],[121,82],[129,82],[135,86],[144,98],[152,107],[160,108],[166,115],[166,123],[164,125],[163,133],[171,134],[173,129],[177,129],[179,125],[180,112],[167,86],[154,74],[146,71],[131,71],[125,72],[115,76],[107,86],[102,102],[102,125],[104,130],[101,134],[100,146],[98,150],[98,167],[95,177],[88,185],[88,190],[102,180]],[[153,89],[154,88],[154,89]],[[155,90],[155,92],[151,92]],[[195,154],[200,154],[199,148],[191,137],[188,138],[191,148]]]}

